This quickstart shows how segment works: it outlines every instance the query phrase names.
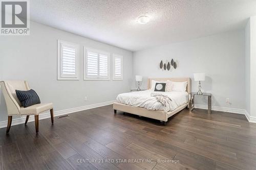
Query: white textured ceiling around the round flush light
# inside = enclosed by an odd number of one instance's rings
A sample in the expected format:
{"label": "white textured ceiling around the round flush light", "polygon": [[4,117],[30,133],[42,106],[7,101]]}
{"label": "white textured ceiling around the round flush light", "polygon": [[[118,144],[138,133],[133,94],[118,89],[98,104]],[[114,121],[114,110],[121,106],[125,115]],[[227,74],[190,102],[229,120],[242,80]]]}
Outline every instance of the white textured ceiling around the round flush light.
{"label": "white textured ceiling around the round flush light", "polygon": [[[245,27],[256,0],[32,0],[31,20],[130,51]],[[150,22],[140,25],[137,17]]]}

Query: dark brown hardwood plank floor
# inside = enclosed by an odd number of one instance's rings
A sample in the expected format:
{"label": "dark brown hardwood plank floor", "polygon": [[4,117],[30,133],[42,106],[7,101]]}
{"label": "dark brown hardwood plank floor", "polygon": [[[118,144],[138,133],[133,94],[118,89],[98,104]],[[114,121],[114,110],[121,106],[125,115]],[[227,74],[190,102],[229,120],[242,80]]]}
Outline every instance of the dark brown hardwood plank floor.
{"label": "dark brown hardwood plank floor", "polygon": [[0,129],[0,169],[256,169],[256,124],[240,114],[184,109],[164,127],[110,105],[54,120]]}

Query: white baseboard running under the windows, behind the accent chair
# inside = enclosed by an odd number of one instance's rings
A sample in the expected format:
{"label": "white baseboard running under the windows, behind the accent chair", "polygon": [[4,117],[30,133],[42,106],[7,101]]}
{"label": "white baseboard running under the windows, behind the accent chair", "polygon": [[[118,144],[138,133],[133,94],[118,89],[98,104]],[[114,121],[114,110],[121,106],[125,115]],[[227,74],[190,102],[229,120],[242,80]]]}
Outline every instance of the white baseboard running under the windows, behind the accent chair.
{"label": "white baseboard running under the windows, behind the accent chair", "polygon": [[[107,105],[112,105],[115,101],[109,101],[109,102],[103,102],[103,103],[97,103],[97,104],[92,104],[92,105],[87,105],[87,106],[80,106],[76,108],[71,108],[71,109],[65,109],[65,110],[59,110],[59,111],[54,111],[54,117],[65,115],[65,114],[71,114],[83,110],[88,110],[88,109],[93,109],[96,107],[101,107],[101,106],[107,106]],[[45,118],[50,118],[50,112],[48,113],[42,113],[39,115],[39,119],[45,119]],[[19,125],[19,124],[24,124],[26,120],[26,117],[20,117],[20,118],[15,118],[12,120],[12,126],[13,125]],[[28,122],[33,122],[35,121],[34,116],[30,116]],[[6,128],[7,127],[7,120],[0,122],[0,128]]]}

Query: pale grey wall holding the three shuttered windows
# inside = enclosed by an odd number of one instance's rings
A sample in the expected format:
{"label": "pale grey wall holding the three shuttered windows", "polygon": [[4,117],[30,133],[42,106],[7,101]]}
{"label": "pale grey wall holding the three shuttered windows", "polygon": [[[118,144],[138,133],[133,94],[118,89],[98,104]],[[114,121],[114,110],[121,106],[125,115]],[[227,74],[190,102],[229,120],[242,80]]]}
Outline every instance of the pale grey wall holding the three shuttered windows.
{"label": "pale grey wall holding the three shuttered windows", "polygon": [[[42,103],[53,102],[55,111],[112,101],[118,93],[130,90],[132,52],[39,23],[31,22],[30,26],[30,36],[0,37],[0,80],[27,80]],[[57,81],[57,39],[80,45],[79,81]],[[83,45],[110,52],[111,64],[112,53],[123,55],[123,81],[84,81]],[[88,101],[83,101],[84,96]],[[1,92],[0,121],[6,119]]]}

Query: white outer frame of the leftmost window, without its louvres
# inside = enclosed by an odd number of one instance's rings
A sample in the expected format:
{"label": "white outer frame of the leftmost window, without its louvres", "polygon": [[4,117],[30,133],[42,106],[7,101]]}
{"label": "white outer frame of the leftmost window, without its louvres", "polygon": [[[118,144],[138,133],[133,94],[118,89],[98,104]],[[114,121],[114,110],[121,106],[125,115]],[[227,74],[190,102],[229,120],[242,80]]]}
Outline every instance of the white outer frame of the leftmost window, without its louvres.
{"label": "white outer frame of the leftmost window, without its louvres", "polygon": [[[70,46],[75,49],[75,75],[67,75],[62,73],[62,46]],[[57,40],[57,80],[79,80],[79,44],[75,44],[68,41]]]}

